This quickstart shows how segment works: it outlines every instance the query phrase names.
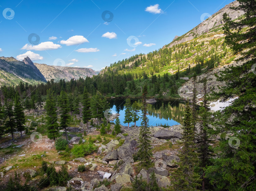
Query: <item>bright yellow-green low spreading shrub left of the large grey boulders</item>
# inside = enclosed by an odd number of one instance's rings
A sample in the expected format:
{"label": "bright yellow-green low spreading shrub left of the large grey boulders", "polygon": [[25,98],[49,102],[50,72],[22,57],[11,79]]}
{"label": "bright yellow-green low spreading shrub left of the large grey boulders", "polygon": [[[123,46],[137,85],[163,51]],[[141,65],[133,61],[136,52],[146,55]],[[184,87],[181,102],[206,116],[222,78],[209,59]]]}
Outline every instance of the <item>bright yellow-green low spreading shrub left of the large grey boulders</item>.
{"label": "bright yellow-green low spreading shrub left of the large grey boulders", "polygon": [[76,157],[83,157],[97,150],[97,147],[93,143],[74,145],[71,149],[71,154]]}

